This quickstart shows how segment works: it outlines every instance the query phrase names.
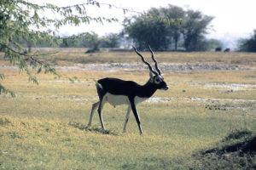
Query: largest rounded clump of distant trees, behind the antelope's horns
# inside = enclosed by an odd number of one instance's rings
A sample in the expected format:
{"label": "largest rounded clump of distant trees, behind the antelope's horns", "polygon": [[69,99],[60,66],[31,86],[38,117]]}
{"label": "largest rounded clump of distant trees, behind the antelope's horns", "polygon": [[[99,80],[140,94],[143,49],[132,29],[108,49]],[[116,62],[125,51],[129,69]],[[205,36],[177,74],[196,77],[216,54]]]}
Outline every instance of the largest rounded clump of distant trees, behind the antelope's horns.
{"label": "largest rounded clump of distant trees, behind the antelope's horns", "polygon": [[[154,50],[174,49],[183,37],[183,47],[187,51],[202,51],[206,41],[208,25],[212,16],[202,14],[192,9],[184,10],[174,5],[167,8],[151,8],[147,13],[147,20],[143,16],[133,16],[125,19],[125,32],[131,37],[140,49]],[[158,19],[158,20],[155,20]],[[165,20],[162,20],[165,19]]]}

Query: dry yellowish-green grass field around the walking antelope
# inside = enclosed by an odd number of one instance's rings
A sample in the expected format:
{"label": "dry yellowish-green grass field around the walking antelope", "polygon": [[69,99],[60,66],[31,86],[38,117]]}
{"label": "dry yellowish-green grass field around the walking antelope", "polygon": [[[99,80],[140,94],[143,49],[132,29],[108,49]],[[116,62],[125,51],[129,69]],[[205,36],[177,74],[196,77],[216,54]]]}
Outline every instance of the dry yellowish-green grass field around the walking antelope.
{"label": "dry yellowish-green grass field around the walking antelope", "polygon": [[[93,126],[88,129],[86,125],[91,104],[97,101],[94,80],[118,77],[143,84],[148,81],[148,71],[80,69],[87,64],[95,68],[111,63],[140,64],[140,59],[132,52],[83,52],[67,48],[42,57],[56,68],[61,66],[62,77],[39,74],[39,85],[28,82],[26,73],[0,56],[0,73],[6,77],[1,83],[16,94],[15,98],[0,95],[0,169],[256,167],[255,152],[201,155],[255,136],[256,54],[156,53],[160,66],[239,65],[246,69],[163,71],[170,89],[157,91],[137,106],[143,127],[140,136],[133,116],[127,132],[122,133],[125,105],[104,107],[106,132],[102,132],[97,114]],[[143,54],[149,60],[150,55]],[[65,69],[71,67],[75,69]],[[77,80],[72,83],[67,77]],[[245,135],[230,137],[237,133]]]}

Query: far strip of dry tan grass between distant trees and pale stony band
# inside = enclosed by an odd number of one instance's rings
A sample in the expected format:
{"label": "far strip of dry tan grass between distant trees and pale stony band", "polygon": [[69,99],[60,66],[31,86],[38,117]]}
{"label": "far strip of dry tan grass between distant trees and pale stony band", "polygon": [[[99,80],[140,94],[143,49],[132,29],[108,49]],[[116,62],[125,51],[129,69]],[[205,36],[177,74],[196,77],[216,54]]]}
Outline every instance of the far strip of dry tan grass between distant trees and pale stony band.
{"label": "far strip of dry tan grass between distant trees and pale stony band", "polygon": [[[86,48],[39,48],[38,51],[58,51],[57,54],[39,57],[48,60],[53,65],[74,65],[77,63],[141,63],[140,58],[134,52],[115,52],[109,53],[103,50],[97,54],[84,54]],[[142,53],[149,60],[150,53]],[[209,65],[247,65],[255,67],[256,59],[254,53],[170,53],[155,52],[156,58],[160,63],[177,64],[209,64]],[[3,54],[0,53],[0,60],[3,64]],[[8,64],[8,62],[4,62]]]}

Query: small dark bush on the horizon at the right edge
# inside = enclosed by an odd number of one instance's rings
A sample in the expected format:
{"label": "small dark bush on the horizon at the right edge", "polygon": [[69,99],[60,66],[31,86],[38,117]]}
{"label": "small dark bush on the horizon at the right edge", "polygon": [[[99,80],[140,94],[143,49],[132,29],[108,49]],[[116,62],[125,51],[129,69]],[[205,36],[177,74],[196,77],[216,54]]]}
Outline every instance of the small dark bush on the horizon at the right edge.
{"label": "small dark bush on the horizon at the right edge", "polygon": [[256,30],[253,31],[253,36],[249,39],[241,39],[239,49],[245,52],[256,52]]}

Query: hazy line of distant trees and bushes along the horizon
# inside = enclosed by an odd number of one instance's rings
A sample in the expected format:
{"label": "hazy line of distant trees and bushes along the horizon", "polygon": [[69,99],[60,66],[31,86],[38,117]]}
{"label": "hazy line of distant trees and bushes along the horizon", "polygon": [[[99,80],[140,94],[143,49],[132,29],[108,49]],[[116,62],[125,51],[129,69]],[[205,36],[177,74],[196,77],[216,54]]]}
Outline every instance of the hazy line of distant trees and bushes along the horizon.
{"label": "hazy line of distant trees and bushes along the horizon", "polygon": [[[16,39],[27,47],[28,52],[33,46],[90,48],[96,52],[100,48],[124,48],[131,47],[131,44],[136,45],[140,50],[146,50],[149,44],[155,51],[209,51],[223,48],[222,42],[206,38],[212,20],[212,16],[202,14],[201,11],[168,5],[166,8],[150,8],[143,15],[125,18],[123,31],[110,33],[103,37],[96,33],[73,35],[74,38],[54,37],[58,40],[57,44],[22,37],[16,37]],[[239,46],[242,51],[253,51],[253,47],[255,51],[255,45],[253,46],[255,41],[254,31],[254,36],[242,40]]]}

